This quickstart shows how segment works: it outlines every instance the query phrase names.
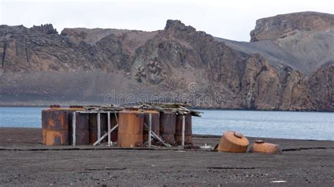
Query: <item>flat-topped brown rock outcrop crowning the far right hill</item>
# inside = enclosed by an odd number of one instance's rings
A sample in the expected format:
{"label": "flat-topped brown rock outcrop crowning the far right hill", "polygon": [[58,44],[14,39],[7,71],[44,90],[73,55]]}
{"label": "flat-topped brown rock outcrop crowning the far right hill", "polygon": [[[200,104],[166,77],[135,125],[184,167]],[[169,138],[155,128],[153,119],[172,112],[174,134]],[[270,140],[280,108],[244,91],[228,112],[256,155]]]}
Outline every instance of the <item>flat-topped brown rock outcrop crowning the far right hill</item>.
{"label": "flat-topped brown rock outcrop crowning the far right hill", "polygon": [[334,15],[327,13],[302,12],[276,15],[256,20],[251,32],[251,41],[274,40],[299,31],[321,31],[333,29]]}

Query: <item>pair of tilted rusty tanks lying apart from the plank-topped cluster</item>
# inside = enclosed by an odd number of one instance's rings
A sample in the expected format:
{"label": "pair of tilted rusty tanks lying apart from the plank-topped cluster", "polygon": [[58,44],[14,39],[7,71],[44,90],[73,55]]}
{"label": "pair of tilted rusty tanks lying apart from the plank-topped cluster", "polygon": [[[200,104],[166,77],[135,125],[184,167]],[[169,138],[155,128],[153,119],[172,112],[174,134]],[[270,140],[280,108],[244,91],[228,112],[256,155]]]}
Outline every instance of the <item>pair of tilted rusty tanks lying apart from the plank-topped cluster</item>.
{"label": "pair of tilted rusty tanks lying apart from the plank-topped cluster", "polygon": [[280,146],[262,140],[257,140],[249,146],[247,137],[236,131],[225,131],[215,150],[229,153],[282,153]]}

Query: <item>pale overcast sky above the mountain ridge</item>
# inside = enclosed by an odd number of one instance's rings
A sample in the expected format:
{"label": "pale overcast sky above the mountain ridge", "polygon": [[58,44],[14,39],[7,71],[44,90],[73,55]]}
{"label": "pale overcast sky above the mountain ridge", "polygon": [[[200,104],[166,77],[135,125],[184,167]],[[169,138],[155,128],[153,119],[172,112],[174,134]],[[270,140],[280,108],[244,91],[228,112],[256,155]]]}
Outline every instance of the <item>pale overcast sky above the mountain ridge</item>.
{"label": "pale overcast sky above the mountain ridge", "polygon": [[152,31],[162,30],[168,19],[177,19],[216,37],[249,41],[257,19],[299,11],[334,14],[334,1],[0,0],[0,24],[32,27],[52,23],[58,32],[64,27]]}

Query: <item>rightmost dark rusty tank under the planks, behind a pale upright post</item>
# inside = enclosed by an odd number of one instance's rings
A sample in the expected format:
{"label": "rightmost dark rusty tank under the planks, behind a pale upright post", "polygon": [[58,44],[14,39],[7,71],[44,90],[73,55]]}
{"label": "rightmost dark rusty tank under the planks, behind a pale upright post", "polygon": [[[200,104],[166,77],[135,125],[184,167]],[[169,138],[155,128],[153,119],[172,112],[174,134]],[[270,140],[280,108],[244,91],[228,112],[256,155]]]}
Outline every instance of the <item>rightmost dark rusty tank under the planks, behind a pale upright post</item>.
{"label": "rightmost dark rusty tank under the planks, behind a pale upright post", "polygon": [[[185,116],[185,144],[192,143],[192,115]],[[176,115],[175,118],[175,141],[178,145],[182,144],[182,118],[183,115]]]}

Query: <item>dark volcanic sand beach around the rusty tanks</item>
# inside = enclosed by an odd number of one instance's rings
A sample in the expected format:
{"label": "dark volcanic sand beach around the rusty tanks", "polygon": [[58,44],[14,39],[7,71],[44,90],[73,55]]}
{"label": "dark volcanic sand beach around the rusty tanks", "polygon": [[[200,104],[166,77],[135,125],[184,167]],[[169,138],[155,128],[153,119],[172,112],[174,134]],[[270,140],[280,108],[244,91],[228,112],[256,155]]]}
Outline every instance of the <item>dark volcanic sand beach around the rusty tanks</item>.
{"label": "dark volcanic sand beach around the rusty tanks", "polygon": [[[42,146],[40,129],[0,128],[1,186],[334,186],[334,141],[265,138],[282,155]],[[249,138],[253,142],[256,138]],[[194,136],[215,146],[217,136]]]}

